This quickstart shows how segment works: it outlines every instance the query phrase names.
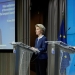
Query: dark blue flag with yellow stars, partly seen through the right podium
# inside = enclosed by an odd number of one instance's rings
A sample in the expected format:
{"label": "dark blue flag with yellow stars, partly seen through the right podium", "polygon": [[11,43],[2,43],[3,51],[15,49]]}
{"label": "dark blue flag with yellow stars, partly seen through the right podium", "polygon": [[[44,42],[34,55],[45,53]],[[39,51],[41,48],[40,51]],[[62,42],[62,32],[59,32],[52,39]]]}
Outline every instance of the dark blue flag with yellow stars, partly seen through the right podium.
{"label": "dark blue flag with yellow stars, partly seen through the right podium", "polygon": [[[64,19],[62,20],[62,23],[61,23],[58,41],[62,41],[64,43],[67,43]],[[60,73],[61,74],[63,74],[65,69],[69,66],[69,61],[70,61],[69,53],[63,52],[61,66],[60,66]]]}

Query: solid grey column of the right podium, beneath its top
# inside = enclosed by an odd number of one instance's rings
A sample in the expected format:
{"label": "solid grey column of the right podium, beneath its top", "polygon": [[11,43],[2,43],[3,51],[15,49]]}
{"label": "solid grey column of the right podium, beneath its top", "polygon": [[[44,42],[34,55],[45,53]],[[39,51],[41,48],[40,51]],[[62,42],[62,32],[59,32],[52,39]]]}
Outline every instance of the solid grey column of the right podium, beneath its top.
{"label": "solid grey column of the right podium, beneath its top", "polygon": [[[60,48],[56,44],[50,44],[48,53],[48,75],[60,75]],[[52,54],[52,50],[55,54]]]}

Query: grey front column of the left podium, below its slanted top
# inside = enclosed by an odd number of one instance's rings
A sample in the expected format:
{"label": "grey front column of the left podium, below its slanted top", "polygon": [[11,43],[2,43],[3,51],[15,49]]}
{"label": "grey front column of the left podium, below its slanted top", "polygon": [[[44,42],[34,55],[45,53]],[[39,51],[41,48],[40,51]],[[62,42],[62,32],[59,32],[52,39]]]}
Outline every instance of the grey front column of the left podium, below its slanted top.
{"label": "grey front column of the left podium, below its slanted top", "polygon": [[17,46],[15,75],[30,75],[30,59],[32,54],[32,51]]}

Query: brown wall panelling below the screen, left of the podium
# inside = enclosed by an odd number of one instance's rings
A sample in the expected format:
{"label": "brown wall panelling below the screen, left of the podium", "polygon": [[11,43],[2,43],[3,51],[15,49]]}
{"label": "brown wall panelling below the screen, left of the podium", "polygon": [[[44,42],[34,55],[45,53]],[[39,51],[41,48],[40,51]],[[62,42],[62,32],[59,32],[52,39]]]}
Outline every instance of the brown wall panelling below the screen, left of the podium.
{"label": "brown wall panelling below the screen, left of the podium", "polygon": [[14,75],[15,55],[13,53],[0,53],[0,75]]}

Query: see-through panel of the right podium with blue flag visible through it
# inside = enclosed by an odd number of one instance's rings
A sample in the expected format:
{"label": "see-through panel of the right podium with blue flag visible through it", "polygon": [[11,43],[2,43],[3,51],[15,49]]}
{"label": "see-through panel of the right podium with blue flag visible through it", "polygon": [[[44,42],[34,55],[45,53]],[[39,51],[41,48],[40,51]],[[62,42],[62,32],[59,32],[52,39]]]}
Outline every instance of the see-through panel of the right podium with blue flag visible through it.
{"label": "see-through panel of the right podium with blue flag visible through it", "polygon": [[59,67],[59,75],[68,75],[67,72],[69,72],[69,68],[71,65],[71,53],[64,52],[63,50],[60,50],[60,67]]}

